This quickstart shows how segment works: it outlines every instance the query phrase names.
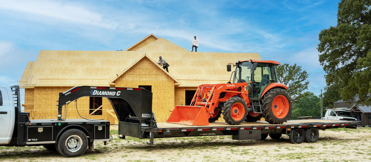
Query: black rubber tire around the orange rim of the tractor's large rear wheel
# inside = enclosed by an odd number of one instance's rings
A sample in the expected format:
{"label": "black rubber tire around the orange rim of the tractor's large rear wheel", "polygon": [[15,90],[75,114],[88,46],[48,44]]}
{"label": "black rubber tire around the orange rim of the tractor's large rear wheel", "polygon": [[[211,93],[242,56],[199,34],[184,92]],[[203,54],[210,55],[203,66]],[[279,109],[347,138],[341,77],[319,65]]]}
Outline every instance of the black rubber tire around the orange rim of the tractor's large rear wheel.
{"label": "black rubber tire around the orange rim of the tractor's large rear wheel", "polygon": [[[288,101],[288,109],[286,109],[287,114],[282,118],[276,117],[273,112],[273,108],[272,108],[273,100],[278,95],[285,97]],[[280,89],[280,88],[274,88],[272,90],[269,90],[263,96],[262,102],[263,102],[263,115],[264,115],[265,121],[269,122],[269,124],[282,124],[283,122],[286,122],[290,118],[291,111],[292,111],[292,103],[291,103],[291,98],[289,94],[285,90]]]}

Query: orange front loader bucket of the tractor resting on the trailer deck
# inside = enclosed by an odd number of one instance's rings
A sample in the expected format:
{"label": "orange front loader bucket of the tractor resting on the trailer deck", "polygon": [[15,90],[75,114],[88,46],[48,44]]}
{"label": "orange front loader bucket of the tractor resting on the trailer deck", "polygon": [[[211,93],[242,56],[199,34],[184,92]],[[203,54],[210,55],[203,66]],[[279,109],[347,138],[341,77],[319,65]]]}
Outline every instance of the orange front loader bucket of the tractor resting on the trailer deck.
{"label": "orange front loader bucket of the tractor resting on the trailer deck", "polygon": [[201,106],[176,105],[166,122],[183,125],[209,125],[206,107]]}

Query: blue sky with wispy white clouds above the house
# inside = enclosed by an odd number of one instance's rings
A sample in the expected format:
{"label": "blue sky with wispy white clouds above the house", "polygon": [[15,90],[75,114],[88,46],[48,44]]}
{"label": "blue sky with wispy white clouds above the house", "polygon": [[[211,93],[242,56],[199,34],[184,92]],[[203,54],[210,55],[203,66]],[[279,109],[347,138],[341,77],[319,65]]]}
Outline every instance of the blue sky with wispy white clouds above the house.
{"label": "blue sky with wispy white clouds above the house", "polygon": [[316,95],[326,83],[319,32],[339,1],[0,0],[0,85],[18,84],[40,50],[125,50],[150,33],[200,52],[260,53],[298,64]]}

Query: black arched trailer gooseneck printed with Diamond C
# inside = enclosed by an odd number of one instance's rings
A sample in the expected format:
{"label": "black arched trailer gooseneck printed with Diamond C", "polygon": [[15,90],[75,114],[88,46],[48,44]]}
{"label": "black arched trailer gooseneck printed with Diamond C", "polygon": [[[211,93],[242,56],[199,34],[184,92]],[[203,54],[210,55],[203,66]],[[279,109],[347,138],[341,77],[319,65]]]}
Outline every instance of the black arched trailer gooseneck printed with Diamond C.
{"label": "black arched trailer gooseneck printed with Diamond C", "polygon": [[155,119],[150,91],[142,88],[78,86],[59,93],[58,120],[62,120],[62,107],[81,97],[107,98],[119,121],[152,126]]}

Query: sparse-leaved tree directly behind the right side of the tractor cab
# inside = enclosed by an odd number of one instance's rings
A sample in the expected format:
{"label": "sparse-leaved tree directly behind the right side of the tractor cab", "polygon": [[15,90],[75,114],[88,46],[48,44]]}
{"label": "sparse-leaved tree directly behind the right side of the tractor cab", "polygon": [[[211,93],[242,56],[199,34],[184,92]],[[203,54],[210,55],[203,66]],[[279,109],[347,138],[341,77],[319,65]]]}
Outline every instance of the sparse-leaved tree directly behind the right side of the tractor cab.
{"label": "sparse-leaved tree directly behind the right side of the tractor cab", "polygon": [[308,89],[309,81],[306,81],[309,74],[296,64],[283,64],[276,67],[277,79],[287,86],[292,102],[303,97],[303,91]]}

